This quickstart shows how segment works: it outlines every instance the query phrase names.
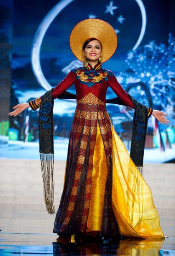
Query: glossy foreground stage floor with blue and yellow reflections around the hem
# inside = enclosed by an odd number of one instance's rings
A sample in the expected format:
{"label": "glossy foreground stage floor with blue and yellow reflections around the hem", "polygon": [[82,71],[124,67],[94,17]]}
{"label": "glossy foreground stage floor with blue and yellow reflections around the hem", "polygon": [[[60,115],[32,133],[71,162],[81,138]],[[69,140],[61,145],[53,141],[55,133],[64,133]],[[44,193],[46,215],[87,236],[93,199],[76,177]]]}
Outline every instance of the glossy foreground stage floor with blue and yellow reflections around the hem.
{"label": "glossy foreground stage floor with blue and yellow reflections around the hem", "polygon": [[[0,205],[0,256],[6,255],[175,255],[175,210],[158,209],[165,240],[124,239],[105,243],[58,241],[52,233],[54,215],[45,205]],[[109,243],[109,244],[107,244]]]}

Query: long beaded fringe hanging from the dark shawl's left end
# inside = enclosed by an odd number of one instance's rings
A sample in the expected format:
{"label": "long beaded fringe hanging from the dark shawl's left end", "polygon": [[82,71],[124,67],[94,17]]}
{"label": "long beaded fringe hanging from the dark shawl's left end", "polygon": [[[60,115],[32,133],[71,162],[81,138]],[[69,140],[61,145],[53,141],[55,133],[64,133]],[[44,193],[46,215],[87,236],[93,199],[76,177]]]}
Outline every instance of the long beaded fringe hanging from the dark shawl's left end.
{"label": "long beaded fringe hanging from the dark shawl's left end", "polygon": [[49,214],[55,213],[54,205],[54,154],[40,153],[44,200]]}

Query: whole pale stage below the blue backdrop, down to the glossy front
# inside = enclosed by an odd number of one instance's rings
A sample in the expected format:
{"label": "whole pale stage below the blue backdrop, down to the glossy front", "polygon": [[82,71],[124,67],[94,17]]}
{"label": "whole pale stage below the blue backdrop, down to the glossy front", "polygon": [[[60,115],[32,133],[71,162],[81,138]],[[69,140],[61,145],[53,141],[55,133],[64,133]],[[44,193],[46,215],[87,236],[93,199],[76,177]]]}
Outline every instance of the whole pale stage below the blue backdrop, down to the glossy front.
{"label": "whole pale stage below the blue backdrop, down to the glossy front", "polygon": [[[55,206],[62,193],[65,161],[55,161]],[[40,161],[0,159],[0,256],[175,255],[175,164],[145,164],[165,240],[125,239],[72,243],[52,233],[55,215],[45,209]]]}

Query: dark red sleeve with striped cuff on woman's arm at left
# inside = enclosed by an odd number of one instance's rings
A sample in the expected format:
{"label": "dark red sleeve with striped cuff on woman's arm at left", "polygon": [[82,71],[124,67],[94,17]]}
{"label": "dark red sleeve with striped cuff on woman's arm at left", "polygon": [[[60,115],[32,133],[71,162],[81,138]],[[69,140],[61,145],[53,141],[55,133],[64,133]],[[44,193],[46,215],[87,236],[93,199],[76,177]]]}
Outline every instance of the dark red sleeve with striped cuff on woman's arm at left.
{"label": "dark red sleeve with striped cuff on woman's arm at left", "polygon": [[[58,96],[62,95],[64,91],[66,91],[75,81],[76,74],[70,71],[68,75],[60,82],[52,91],[52,96],[56,99]],[[29,101],[29,105],[32,110],[36,110],[40,107],[42,96],[39,98]]]}

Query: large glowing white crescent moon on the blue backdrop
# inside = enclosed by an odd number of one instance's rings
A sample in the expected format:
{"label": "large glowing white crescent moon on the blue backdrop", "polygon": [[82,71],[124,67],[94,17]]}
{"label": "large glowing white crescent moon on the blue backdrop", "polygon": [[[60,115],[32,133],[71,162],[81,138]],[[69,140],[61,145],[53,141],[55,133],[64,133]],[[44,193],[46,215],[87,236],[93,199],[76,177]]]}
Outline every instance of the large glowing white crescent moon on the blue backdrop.
{"label": "large glowing white crescent moon on the blue backdrop", "polygon": [[[142,17],[142,26],[141,26],[141,33],[140,36],[133,47],[135,50],[141,43],[141,40],[145,34],[146,24],[147,24],[147,15],[145,6],[143,5],[142,0],[135,0],[141,10],[141,17]],[[45,18],[41,21],[33,40],[32,45],[32,53],[31,53],[31,62],[32,62],[32,69],[34,75],[40,83],[40,85],[47,91],[52,89],[51,84],[46,80],[40,65],[40,48],[45,36],[47,29],[49,28],[52,21],[56,18],[56,16],[66,7],[68,4],[73,2],[73,0],[61,0],[59,1],[45,16]]]}

